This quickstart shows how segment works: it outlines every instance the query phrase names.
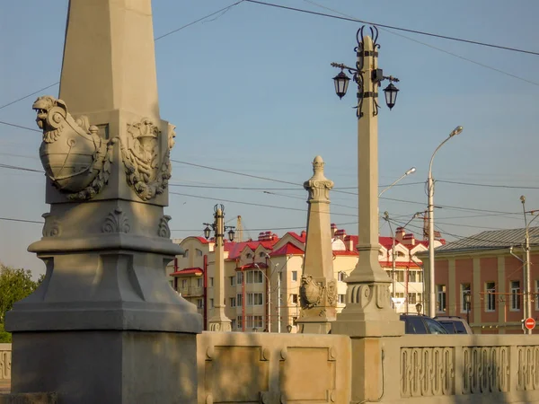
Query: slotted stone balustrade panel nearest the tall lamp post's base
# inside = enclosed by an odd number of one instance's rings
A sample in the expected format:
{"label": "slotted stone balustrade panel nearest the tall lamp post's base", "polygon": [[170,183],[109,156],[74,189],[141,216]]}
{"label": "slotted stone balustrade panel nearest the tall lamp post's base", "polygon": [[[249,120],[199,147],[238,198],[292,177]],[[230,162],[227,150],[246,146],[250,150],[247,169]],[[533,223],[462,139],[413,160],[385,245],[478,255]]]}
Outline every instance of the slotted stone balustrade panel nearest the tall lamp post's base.
{"label": "slotted stone balustrade panel nearest the tall lamp post's base", "polygon": [[455,394],[454,347],[402,347],[401,397]]}

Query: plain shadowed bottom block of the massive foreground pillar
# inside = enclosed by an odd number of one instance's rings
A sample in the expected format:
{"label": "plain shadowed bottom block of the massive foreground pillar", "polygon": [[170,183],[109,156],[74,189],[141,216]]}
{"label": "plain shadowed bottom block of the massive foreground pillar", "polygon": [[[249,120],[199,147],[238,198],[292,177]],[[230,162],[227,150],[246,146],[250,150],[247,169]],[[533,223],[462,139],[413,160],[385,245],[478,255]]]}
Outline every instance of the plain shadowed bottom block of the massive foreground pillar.
{"label": "plain shadowed bottom block of the massive foreground pillar", "polygon": [[77,404],[196,404],[196,338],[151,331],[16,332],[12,392],[55,391],[61,402]]}

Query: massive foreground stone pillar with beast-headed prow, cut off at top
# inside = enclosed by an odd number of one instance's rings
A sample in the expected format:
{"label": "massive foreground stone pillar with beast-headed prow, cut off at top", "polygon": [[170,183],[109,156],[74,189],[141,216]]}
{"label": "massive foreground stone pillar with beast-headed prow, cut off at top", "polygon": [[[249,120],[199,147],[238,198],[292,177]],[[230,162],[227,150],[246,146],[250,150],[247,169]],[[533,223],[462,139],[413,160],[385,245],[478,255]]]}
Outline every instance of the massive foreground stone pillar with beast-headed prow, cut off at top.
{"label": "massive foreground stone pillar with beast-headed prow, cut off at top", "polygon": [[160,119],[150,0],[71,0],[60,99],[34,104],[46,171],[46,263],[7,313],[12,391],[62,402],[197,401],[202,319],[165,265],[174,127]]}

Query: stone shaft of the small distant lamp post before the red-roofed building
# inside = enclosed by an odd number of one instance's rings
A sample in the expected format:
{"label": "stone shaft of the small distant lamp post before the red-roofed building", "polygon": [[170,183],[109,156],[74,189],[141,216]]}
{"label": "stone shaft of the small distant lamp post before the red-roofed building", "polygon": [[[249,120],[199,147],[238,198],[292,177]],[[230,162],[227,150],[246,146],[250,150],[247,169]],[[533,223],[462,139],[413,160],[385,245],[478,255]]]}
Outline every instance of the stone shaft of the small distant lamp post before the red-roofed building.
{"label": "stone shaft of the small distant lamp post before the red-roofed building", "polygon": [[222,205],[216,205],[215,209],[214,309],[208,324],[210,331],[232,331],[232,321],[225,315],[225,213]]}

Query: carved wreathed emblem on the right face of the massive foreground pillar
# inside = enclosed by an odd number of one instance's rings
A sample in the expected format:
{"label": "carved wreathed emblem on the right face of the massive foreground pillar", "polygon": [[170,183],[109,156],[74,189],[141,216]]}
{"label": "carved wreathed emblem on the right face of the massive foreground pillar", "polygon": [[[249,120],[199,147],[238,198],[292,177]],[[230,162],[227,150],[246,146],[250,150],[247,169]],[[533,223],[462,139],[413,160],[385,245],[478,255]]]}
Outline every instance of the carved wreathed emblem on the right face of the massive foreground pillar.
{"label": "carved wreathed emblem on the right face of the massive foreground pillar", "polygon": [[127,140],[119,142],[128,184],[142,200],[162,194],[171,178],[170,151],[176,136],[174,126],[168,127],[167,146],[163,153],[160,153],[160,136],[161,131],[154,122],[144,118],[128,124]]}

